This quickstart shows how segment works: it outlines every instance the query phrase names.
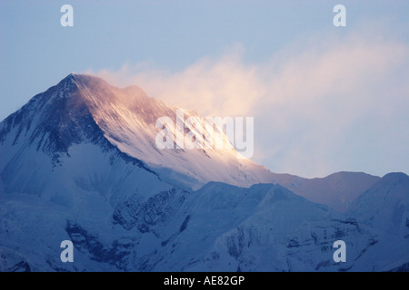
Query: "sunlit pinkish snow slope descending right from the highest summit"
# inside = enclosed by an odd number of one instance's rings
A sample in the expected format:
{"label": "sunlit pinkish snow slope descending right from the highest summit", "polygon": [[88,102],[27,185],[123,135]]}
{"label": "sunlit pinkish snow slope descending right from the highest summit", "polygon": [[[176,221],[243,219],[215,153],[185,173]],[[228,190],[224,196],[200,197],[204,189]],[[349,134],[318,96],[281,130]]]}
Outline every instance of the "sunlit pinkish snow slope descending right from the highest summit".
{"label": "sunlit pinkish snow slope descending right from the highest summit", "polygon": [[[127,155],[144,160],[165,179],[169,169],[172,169],[172,179],[183,179],[195,189],[212,180],[239,186],[271,181],[268,169],[251,160],[241,159],[224,132],[217,128],[208,131],[205,142],[220,140],[226,144],[225,149],[215,149],[214,146],[193,150],[180,148],[177,136],[185,138],[185,134],[193,130],[186,125],[186,120],[195,117],[205,121],[194,111],[167,106],[147,96],[138,86],[120,89],[85,74],[70,74],[65,79],[75,83],[82,101],[98,127],[104,131],[105,138]],[[159,149],[155,143],[158,132],[163,130],[156,126],[161,117],[169,118],[175,126],[173,149]]]}

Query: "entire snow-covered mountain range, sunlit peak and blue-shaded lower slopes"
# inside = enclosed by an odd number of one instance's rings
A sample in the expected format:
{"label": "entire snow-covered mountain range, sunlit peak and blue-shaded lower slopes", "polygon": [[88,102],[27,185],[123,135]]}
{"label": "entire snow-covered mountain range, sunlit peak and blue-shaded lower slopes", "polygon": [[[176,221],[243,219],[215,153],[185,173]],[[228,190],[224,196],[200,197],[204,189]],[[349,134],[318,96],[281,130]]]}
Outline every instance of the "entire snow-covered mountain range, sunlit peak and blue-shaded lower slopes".
{"label": "entire snow-covered mountain range, sunlit peak and blue-shaded lower slopes", "polygon": [[[0,270],[409,269],[406,174],[304,179],[233,146],[160,150],[155,122],[185,122],[178,110],[71,73],[2,121]],[[340,239],[347,259],[335,263]],[[74,263],[60,260],[63,240]]]}

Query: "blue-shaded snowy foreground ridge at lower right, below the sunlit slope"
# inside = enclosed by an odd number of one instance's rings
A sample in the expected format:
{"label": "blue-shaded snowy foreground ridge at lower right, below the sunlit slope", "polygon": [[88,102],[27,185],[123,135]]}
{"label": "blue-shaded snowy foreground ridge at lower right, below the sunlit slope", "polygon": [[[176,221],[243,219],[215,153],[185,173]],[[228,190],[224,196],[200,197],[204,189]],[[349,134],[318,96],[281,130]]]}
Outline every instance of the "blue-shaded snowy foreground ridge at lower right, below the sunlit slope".
{"label": "blue-shaded snowy foreground ridge at lower right, below the sunlit slope", "polygon": [[[407,195],[402,190],[406,188],[398,186],[396,195]],[[394,211],[394,206],[388,203],[384,210]],[[372,220],[336,212],[279,185],[243,189],[210,182],[186,196],[165,227],[156,228],[161,242],[138,270],[402,269],[409,262],[407,228],[398,237],[381,226],[385,220]],[[394,217],[387,220],[393,223]],[[347,261],[337,264],[333,244],[339,239],[347,245]]]}

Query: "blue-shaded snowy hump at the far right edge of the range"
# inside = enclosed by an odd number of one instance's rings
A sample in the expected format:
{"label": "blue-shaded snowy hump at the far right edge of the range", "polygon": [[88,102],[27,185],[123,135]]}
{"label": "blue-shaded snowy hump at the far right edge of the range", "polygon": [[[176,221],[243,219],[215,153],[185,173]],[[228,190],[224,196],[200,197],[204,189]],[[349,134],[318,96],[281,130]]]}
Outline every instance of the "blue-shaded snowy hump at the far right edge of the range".
{"label": "blue-shaded snowy hump at the far right edge of the range", "polygon": [[409,177],[406,174],[386,174],[354,200],[347,214],[372,227],[378,240],[371,250],[364,253],[352,270],[372,266],[377,271],[407,271]]}

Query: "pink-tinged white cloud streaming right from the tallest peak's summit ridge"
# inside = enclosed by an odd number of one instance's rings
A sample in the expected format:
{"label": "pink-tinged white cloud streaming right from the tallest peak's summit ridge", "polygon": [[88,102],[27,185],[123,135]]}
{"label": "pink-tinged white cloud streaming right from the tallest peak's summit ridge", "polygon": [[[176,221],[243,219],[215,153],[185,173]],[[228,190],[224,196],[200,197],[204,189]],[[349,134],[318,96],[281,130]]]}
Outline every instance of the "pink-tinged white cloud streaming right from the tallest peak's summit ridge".
{"label": "pink-tinged white cloud streaming right from the tallest peak's summit ridge", "polygon": [[362,30],[288,49],[265,63],[245,63],[237,45],[182,72],[145,63],[96,74],[204,116],[254,116],[254,159],[273,171],[407,172],[407,44]]}

